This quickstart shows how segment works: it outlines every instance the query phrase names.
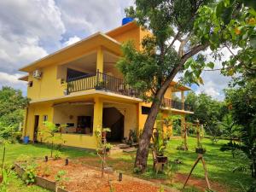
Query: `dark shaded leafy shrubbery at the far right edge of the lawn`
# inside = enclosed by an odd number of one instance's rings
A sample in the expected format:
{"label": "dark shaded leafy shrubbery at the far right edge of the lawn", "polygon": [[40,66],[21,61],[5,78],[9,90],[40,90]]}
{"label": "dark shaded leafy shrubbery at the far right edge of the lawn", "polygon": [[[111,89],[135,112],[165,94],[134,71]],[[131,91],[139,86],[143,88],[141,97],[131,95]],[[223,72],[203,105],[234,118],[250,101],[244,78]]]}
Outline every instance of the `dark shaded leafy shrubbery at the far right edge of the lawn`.
{"label": "dark shaded leafy shrubbery at the far right edge of the lawn", "polygon": [[225,95],[230,113],[236,124],[241,125],[241,145],[224,147],[243,151],[251,160],[252,177],[256,177],[256,81],[251,79],[241,87],[227,89]]}

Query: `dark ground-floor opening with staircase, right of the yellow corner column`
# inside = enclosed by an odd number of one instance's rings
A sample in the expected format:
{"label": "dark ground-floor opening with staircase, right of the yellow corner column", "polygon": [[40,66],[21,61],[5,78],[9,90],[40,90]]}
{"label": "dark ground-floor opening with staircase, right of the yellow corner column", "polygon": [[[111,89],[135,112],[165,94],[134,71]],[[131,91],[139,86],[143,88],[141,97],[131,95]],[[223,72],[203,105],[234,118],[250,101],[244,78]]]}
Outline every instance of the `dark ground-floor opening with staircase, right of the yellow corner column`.
{"label": "dark ground-floor opening with staircase, right of the yellow corner column", "polygon": [[125,116],[116,108],[103,108],[102,124],[111,132],[107,134],[108,142],[121,142],[124,138]]}

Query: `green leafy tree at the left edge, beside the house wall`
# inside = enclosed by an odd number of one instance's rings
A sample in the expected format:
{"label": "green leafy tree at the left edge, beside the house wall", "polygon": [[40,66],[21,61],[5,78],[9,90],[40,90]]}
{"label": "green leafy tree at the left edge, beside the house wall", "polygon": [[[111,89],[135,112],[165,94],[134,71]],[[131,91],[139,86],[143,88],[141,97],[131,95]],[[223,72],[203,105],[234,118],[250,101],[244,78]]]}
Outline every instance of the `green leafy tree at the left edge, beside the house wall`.
{"label": "green leafy tree at the left edge, beside the house wall", "polygon": [[28,99],[22,96],[20,90],[11,87],[3,87],[0,90],[0,122],[4,125],[12,125],[17,131],[24,119],[24,108]]}

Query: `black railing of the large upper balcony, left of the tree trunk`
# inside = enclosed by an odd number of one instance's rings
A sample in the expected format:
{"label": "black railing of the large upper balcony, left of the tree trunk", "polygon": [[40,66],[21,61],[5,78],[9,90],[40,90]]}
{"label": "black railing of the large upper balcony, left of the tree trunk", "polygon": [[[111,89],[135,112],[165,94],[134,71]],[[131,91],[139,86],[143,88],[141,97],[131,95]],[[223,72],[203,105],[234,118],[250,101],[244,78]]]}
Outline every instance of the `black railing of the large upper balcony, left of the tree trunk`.
{"label": "black railing of the large upper balcony, left of the tree trunk", "polygon": [[123,79],[105,73],[96,72],[67,81],[67,94],[92,89],[110,91],[124,96],[139,96],[139,92],[131,89],[131,86],[125,84]]}

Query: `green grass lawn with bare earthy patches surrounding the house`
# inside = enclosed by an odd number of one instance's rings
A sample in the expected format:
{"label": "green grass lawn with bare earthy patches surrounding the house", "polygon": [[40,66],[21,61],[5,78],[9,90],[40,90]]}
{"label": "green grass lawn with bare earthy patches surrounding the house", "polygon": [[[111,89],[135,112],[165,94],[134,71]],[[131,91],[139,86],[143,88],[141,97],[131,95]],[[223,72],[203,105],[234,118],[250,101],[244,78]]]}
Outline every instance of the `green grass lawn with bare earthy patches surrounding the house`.
{"label": "green grass lawn with bare earthy patches surrounding the house", "polygon": [[[134,177],[141,177],[143,179],[154,181],[154,183],[163,183],[171,186],[175,189],[182,189],[183,181],[186,178],[191,166],[197,157],[195,154],[195,138],[189,137],[189,151],[179,151],[177,146],[181,143],[180,138],[173,138],[166,149],[166,154],[169,160],[180,160],[182,164],[175,164],[171,162],[172,166],[169,172],[159,173],[155,175],[152,171],[152,157],[151,154],[148,158],[148,171],[143,175],[137,175],[133,173],[133,163],[135,158],[135,152],[125,154],[112,154],[108,157],[108,166],[113,166],[115,171],[124,172],[125,174],[132,175]],[[247,187],[252,183],[253,179],[249,174],[232,172],[234,167],[242,164],[242,160],[239,158],[232,158],[230,152],[221,152],[220,146],[227,141],[221,140],[217,144],[212,144],[211,140],[204,139],[203,146],[207,148],[207,154],[204,155],[207,162],[207,170],[209,172],[210,182],[212,189],[215,191],[241,191],[242,187]],[[6,162],[11,164],[15,160],[22,160],[25,158],[44,158],[44,155],[49,155],[49,148],[42,144],[12,144],[7,148],[7,160]],[[79,162],[86,166],[101,166],[99,158],[93,152],[88,152],[83,149],[77,148],[61,148],[61,157],[69,157],[71,162]],[[167,171],[167,169],[166,169]],[[172,178],[172,179],[171,179]],[[15,174],[11,174],[11,182],[9,183],[9,191],[46,191],[36,186],[28,186],[16,177]],[[204,172],[201,166],[195,167],[193,176],[189,180],[189,186],[184,191],[204,191],[206,189],[206,183],[204,180]],[[196,188],[195,188],[195,186]]]}

